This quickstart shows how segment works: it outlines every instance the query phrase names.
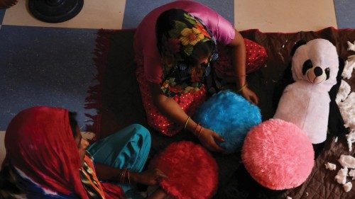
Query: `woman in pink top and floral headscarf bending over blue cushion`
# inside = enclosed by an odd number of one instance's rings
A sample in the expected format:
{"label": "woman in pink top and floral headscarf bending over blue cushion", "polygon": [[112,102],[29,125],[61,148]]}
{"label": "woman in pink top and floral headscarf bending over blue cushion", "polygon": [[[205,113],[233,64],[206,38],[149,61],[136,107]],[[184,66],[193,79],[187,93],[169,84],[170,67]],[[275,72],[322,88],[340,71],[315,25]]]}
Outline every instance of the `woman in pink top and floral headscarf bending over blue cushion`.
{"label": "woman in pink top and floral headscarf bending over blue cushion", "polygon": [[[232,48],[229,68],[210,66],[218,58],[217,42]],[[207,6],[174,1],[155,8],[138,25],[134,50],[148,124],[164,135],[173,136],[185,128],[207,149],[222,151],[215,140],[223,142],[223,137],[191,118],[207,91],[221,89],[216,76],[233,79],[236,92],[258,103],[246,73],[266,63],[266,50],[242,38],[229,21]]]}

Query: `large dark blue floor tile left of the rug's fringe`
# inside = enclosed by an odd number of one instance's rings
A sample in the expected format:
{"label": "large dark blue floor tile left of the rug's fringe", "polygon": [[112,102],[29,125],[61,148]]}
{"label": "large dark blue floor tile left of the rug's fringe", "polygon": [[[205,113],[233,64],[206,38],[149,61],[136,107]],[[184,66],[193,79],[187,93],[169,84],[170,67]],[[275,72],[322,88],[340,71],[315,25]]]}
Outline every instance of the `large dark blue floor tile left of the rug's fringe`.
{"label": "large dark blue floor tile left of the rug's fringe", "polygon": [[84,99],[96,68],[97,30],[2,25],[0,31],[0,130],[30,106],[58,106],[87,119]]}

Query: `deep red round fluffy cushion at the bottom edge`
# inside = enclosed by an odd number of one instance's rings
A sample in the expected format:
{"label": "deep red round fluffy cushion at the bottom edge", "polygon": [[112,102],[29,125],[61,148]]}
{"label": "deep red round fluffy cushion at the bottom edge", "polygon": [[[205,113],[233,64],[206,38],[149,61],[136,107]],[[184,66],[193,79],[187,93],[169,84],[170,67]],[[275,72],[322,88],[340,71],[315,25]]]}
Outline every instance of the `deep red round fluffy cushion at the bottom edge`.
{"label": "deep red round fluffy cushion at the bottom edge", "polygon": [[160,186],[174,198],[211,198],[217,188],[217,164],[200,144],[170,144],[151,164],[168,175]]}

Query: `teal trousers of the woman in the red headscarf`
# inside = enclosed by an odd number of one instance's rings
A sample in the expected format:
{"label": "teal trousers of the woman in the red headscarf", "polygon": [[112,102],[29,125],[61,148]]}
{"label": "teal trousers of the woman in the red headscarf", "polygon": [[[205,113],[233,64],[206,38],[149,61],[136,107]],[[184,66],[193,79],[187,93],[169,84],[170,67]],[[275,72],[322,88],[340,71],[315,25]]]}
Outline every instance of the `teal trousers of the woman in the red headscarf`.
{"label": "teal trousers of the woman in the red headscarf", "polygon": [[[91,144],[87,151],[94,162],[119,169],[141,172],[151,149],[151,134],[142,125],[134,124]],[[120,185],[124,192],[129,185]]]}

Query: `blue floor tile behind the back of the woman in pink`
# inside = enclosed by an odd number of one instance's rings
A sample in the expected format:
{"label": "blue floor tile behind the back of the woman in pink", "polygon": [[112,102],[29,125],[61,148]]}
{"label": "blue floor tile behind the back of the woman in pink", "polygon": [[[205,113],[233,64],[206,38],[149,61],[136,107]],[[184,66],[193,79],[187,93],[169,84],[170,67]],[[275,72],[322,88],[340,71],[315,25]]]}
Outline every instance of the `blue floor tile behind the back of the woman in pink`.
{"label": "blue floor tile behind the back of the woman in pink", "polygon": [[[234,24],[234,0],[196,0],[210,8],[213,8],[217,13]],[[141,1],[141,0],[126,0],[126,8],[124,11],[123,29],[136,28],[142,21],[144,16],[154,8],[167,4],[169,0]]]}

